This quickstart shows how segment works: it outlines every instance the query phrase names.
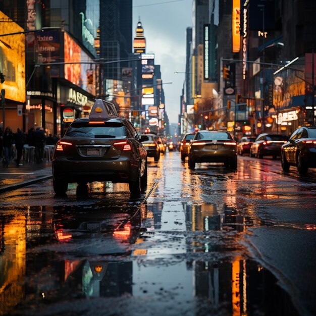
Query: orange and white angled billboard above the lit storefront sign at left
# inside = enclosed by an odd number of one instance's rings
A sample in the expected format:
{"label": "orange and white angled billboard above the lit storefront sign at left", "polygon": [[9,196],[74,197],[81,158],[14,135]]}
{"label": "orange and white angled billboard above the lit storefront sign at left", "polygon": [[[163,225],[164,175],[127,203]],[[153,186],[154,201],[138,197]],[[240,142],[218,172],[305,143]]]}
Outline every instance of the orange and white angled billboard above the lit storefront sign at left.
{"label": "orange and white angled billboard above the lit storefront sign at left", "polygon": [[[65,79],[95,94],[95,65],[92,59],[65,32],[64,33]],[[81,64],[83,63],[83,64]]]}

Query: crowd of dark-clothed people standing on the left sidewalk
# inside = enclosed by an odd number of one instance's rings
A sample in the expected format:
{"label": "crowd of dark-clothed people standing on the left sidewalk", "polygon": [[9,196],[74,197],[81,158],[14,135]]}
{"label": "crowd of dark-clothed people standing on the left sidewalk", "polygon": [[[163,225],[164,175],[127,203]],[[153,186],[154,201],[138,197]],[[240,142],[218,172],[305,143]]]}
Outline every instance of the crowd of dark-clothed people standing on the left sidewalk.
{"label": "crowd of dark-clothed people standing on the left sidewalk", "polygon": [[16,133],[9,126],[4,131],[0,127],[0,161],[2,160],[3,166],[7,168],[13,160],[15,147],[16,157],[14,162],[16,167],[19,167],[21,165],[23,148],[27,145],[35,148],[35,159],[40,164],[43,161],[45,145],[55,145],[58,140],[59,138],[56,135],[45,135],[44,129],[41,127],[32,127],[28,133],[23,132],[19,127]]}

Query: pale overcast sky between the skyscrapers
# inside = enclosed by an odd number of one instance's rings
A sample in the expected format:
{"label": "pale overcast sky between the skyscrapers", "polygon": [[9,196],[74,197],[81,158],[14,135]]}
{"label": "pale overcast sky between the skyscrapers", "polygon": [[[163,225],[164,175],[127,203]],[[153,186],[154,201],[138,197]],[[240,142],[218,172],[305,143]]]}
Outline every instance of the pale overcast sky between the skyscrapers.
{"label": "pale overcast sky between the skyscrapers", "polygon": [[133,37],[138,19],[144,28],[146,53],[161,65],[166,111],[170,123],[178,122],[185,74],[186,28],[192,26],[192,0],[133,0]]}

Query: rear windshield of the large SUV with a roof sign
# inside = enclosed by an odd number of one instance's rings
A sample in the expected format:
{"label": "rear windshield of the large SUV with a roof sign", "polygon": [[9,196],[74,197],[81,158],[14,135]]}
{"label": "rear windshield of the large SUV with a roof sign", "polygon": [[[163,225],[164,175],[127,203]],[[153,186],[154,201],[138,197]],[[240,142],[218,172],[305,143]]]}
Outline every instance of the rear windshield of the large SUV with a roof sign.
{"label": "rear windshield of the large SUV with a roof sign", "polygon": [[78,138],[116,138],[126,137],[126,130],[122,123],[104,123],[104,125],[99,125],[84,122],[70,125],[66,136]]}

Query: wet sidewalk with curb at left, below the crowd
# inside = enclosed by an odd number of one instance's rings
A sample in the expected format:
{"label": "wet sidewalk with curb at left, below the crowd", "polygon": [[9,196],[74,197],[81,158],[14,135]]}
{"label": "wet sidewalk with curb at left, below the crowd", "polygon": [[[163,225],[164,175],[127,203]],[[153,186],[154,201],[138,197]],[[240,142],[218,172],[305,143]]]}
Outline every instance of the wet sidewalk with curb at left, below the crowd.
{"label": "wet sidewalk with curb at left, below the crowd", "polygon": [[22,163],[22,166],[16,167],[16,164],[11,162],[8,168],[4,168],[0,162],[0,193],[52,178],[51,162]]}

